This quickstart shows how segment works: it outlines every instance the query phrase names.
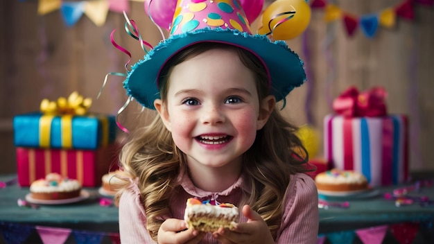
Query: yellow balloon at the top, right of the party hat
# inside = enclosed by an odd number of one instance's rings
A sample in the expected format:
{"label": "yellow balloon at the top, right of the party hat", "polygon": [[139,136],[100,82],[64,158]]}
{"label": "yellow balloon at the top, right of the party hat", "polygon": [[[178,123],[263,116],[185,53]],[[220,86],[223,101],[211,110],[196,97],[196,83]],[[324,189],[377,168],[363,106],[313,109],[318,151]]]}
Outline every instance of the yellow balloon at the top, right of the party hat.
{"label": "yellow balloon at the top, right of the party hat", "polygon": [[277,0],[263,11],[258,34],[272,32],[272,40],[290,40],[306,30],[310,21],[311,7],[306,1]]}

